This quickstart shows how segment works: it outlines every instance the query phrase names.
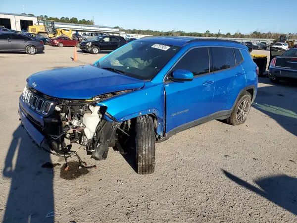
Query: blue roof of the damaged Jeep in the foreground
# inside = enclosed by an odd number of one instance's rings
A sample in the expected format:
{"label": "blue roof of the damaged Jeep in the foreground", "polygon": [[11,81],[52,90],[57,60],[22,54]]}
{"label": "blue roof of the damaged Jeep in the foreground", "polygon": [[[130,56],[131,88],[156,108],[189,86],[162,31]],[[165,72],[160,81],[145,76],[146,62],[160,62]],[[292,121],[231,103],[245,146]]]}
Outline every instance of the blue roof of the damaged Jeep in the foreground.
{"label": "blue roof of the damaged Jeep in the foreground", "polygon": [[[149,41],[152,43],[163,43],[163,44],[168,44],[168,45],[174,45],[174,46],[179,46],[179,47],[183,47],[189,43],[193,43],[193,42],[216,42],[216,43],[231,43],[231,44],[240,44],[236,41],[232,41],[232,40],[221,40],[221,39],[202,39],[202,38],[195,38],[195,37],[182,37],[182,36],[156,36],[156,37],[145,37],[145,38],[141,38],[140,40],[145,40],[145,41]],[[240,44],[241,46],[243,46],[242,44]]]}

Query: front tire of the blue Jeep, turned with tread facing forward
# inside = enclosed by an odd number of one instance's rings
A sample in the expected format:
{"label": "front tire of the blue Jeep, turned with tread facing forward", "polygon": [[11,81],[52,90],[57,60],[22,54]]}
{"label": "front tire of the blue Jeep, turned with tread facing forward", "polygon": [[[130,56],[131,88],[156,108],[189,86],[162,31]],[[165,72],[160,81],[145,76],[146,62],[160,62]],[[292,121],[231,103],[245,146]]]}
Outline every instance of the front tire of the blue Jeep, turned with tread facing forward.
{"label": "front tire of the blue Jeep, turned with tread facing forward", "polygon": [[151,174],[155,168],[155,135],[153,120],[148,115],[136,118],[135,155],[138,174]]}

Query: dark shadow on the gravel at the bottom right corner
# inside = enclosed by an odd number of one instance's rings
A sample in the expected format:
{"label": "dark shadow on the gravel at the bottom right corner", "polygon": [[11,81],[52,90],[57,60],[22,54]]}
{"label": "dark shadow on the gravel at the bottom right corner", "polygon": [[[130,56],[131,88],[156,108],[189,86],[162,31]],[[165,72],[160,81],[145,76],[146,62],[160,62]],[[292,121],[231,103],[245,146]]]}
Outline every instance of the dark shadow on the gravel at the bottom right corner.
{"label": "dark shadow on the gravel at the bottom right corner", "polygon": [[263,177],[254,181],[261,188],[259,189],[224,169],[222,171],[240,186],[297,215],[297,178],[287,175]]}

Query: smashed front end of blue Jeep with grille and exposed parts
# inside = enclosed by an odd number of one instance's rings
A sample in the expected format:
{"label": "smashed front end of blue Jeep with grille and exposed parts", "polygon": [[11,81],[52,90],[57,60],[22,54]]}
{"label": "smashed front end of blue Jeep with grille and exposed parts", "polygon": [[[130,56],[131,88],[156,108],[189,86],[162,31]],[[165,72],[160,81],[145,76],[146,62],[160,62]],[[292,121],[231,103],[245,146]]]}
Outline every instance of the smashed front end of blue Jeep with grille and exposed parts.
{"label": "smashed front end of blue Jeep with grille and exposed parts", "polygon": [[106,107],[97,104],[131,91],[104,94],[90,100],[66,100],[51,98],[27,86],[20,98],[20,108],[24,112],[29,108],[30,112],[33,110],[42,117],[42,120],[38,120],[30,114],[26,115],[57,155],[70,155],[73,153],[72,144],[76,143],[83,146],[93,159],[104,160],[108,148],[116,145],[116,131],[124,132],[127,121],[125,124],[117,122],[106,112]]}

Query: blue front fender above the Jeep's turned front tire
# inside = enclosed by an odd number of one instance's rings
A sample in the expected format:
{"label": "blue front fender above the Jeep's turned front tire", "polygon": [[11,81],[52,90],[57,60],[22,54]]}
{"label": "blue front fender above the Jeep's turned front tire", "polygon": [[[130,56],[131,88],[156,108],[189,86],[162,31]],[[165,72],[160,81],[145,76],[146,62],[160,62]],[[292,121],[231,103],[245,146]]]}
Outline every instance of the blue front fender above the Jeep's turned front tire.
{"label": "blue front fender above the Jeep's turned front tire", "polygon": [[163,84],[146,82],[145,87],[140,90],[108,99],[97,105],[105,106],[106,112],[118,122],[144,114],[154,114],[158,120],[158,134],[161,135],[163,131],[165,114]]}

